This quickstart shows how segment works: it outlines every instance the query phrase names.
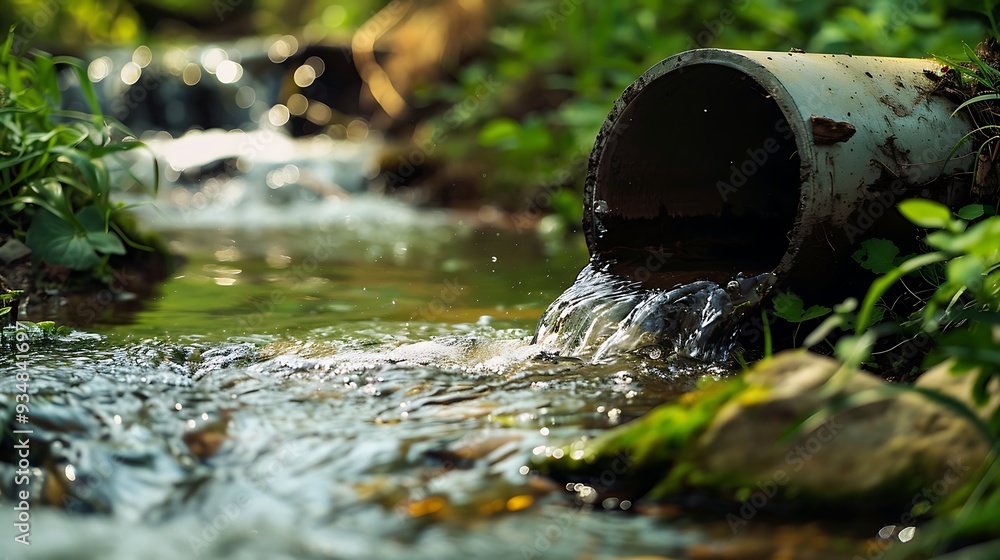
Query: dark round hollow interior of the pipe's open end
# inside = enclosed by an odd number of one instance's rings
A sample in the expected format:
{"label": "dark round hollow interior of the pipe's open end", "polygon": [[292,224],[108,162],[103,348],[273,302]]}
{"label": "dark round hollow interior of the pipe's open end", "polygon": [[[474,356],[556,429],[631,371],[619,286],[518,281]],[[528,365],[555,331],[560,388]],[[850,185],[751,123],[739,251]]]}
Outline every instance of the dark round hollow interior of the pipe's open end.
{"label": "dark round hollow interior of the pipe's open end", "polygon": [[708,64],[672,71],[608,135],[588,200],[591,252],[648,286],[773,270],[799,207],[799,168],[781,109],[753,79]]}

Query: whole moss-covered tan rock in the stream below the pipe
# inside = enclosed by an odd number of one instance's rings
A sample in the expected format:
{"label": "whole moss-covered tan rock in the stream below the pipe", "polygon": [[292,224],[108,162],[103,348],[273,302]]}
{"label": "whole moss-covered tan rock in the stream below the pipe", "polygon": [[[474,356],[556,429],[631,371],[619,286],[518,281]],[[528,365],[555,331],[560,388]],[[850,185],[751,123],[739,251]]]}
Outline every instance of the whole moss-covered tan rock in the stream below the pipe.
{"label": "whole moss-covered tan rock in the stream below the pipe", "polygon": [[[647,482],[600,489],[610,496],[701,493],[752,503],[755,511],[794,503],[846,513],[906,512],[917,501],[936,502],[980,467],[989,444],[968,418],[840,367],[806,352],[779,354],[721,388],[686,395],[601,435],[583,453],[579,444],[567,447],[539,470],[560,480],[595,480],[618,457],[628,464],[621,478]],[[817,414],[824,409],[829,414]]]}

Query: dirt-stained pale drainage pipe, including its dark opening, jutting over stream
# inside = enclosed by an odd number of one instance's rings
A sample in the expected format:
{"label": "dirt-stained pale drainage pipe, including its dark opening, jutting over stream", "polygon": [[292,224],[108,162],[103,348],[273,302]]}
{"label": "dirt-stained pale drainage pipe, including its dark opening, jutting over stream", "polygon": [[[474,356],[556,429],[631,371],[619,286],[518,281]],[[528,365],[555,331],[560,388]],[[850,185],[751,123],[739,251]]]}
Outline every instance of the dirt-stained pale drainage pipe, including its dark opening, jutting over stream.
{"label": "dirt-stained pale drainage pipe, including its dark opening, jutting over stream", "polygon": [[849,262],[860,242],[910,227],[896,203],[967,198],[957,175],[972,157],[948,156],[972,125],[935,92],[940,69],[719,49],[663,60],[597,137],[584,194],[592,258],[647,287],[771,271],[803,295],[840,297],[856,286],[831,290],[832,275],[861,271]]}

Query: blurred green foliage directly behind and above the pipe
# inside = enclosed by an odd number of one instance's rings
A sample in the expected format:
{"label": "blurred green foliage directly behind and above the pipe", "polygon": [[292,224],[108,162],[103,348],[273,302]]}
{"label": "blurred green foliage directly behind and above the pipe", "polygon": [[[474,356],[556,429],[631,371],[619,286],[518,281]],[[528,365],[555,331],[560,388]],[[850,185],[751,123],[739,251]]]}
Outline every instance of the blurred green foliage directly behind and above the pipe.
{"label": "blurred green foliage directly behind and above the pipe", "polygon": [[800,47],[927,56],[981,37],[987,22],[980,9],[943,0],[511,2],[497,8],[483,57],[454,69],[459,84],[427,88],[418,102],[460,106],[491,76],[500,89],[476,111],[457,124],[435,120],[450,138],[464,140],[446,157],[484,162],[487,194],[514,209],[551,186],[581,204],[586,154],[613,101],[670,55]]}

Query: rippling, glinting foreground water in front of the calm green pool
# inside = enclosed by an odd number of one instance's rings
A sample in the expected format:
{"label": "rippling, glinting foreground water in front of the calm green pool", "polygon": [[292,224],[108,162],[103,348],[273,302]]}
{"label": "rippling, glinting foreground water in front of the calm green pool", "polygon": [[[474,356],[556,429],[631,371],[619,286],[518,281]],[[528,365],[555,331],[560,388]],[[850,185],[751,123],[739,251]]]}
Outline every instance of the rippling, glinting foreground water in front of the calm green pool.
{"label": "rippling, glinting foreground water in front of the calm green pool", "polygon": [[[593,532],[571,496],[521,468],[533,450],[638,416],[697,375],[637,356],[556,357],[518,329],[392,329],[36,345],[29,557],[515,557],[550,525],[552,557],[629,550],[611,543],[634,521]],[[0,381],[4,418],[15,394]],[[4,496],[15,490],[8,450]],[[689,538],[664,528],[632,550]]]}

